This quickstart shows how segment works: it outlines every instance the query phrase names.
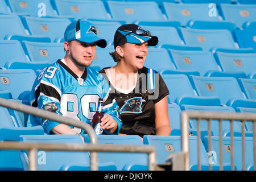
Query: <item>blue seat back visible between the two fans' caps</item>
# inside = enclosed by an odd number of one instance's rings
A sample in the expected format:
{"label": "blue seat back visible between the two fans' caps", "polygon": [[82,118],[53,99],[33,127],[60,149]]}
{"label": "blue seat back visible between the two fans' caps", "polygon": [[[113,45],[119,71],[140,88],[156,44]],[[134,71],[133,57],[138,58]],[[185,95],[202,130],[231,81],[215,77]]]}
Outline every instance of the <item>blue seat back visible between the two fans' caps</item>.
{"label": "blue seat back visible between the two fans' caps", "polygon": [[115,31],[122,25],[121,23],[115,21],[89,20],[89,22],[98,29],[98,36],[105,39],[109,46],[113,43]]}

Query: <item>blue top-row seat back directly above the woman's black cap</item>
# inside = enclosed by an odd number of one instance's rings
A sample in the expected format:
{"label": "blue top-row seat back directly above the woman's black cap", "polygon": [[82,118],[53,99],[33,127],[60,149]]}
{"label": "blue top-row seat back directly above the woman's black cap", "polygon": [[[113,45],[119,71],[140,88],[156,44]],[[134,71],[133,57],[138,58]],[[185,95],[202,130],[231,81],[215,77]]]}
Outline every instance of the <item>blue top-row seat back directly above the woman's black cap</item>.
{"label": "blue top-row seat back directly above the woman's black cap", "polygon": [[166,20],[156,2],[108,1],[108,5],[114,20],[124,20],[126,23]]}

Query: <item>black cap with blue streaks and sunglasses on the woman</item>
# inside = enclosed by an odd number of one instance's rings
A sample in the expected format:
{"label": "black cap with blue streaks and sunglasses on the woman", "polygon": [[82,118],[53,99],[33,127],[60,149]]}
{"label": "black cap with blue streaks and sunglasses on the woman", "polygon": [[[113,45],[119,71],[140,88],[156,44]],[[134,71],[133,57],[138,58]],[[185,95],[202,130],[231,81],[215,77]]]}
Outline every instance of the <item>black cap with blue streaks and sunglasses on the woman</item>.
{"label": "black cap with blue streaks and sunglasses on the woman", "polygon": [[144,43],[148,46],[156,46],[158,44],[158,37],[152,36],[150,31],[143,30],[137,24],[123,24],[114,35],[114,48],[125,43]]}

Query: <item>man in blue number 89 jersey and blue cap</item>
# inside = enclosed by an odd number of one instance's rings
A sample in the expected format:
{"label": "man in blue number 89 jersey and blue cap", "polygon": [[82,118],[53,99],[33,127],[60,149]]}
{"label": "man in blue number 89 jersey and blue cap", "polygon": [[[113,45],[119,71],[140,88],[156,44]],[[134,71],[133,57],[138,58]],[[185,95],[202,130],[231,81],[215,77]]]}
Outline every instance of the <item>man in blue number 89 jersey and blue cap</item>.
{"label": "man in blue number 89 jersey and blue cap", "polygon": [[[109,86],[89,65],[96,46],[106,47],[93,24],[78,20],[65,30],[65,57],[45,68],[32,88],[31,105],[40,109],[90,123],[98,98],[105,98]],[[104,105],[101,127],[105,134],[118,134],[122,122],[115,102]],[[47,134],[84,134],[85,131],[62,123],[31,117],[28,126],[42,125]]]}

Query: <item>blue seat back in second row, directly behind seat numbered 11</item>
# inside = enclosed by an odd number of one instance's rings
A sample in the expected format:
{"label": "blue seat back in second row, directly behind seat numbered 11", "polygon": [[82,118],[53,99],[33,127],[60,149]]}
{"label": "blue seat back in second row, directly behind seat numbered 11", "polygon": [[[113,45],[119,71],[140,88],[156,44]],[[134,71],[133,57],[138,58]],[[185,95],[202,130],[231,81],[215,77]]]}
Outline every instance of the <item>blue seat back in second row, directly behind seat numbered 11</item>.
{"label": "blue seat back in second row, directly behind seat numbered 11", "polygon": [[228,30],[180,28],[180,31],[188,46],[199,46],[207,51],[211,48],[238,48]]}

